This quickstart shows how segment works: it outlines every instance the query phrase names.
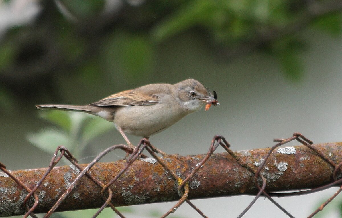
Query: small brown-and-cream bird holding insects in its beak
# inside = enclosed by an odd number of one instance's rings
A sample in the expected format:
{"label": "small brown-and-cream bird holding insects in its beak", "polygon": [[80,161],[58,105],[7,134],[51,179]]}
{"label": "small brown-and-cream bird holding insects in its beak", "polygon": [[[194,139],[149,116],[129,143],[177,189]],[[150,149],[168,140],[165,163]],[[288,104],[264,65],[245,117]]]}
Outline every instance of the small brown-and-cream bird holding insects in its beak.
{"label": "small brown-and-cream bird holding insects in its beak", "polygon": [[[149,84],[121,91],[88,105],[43,104],[38,109],[84,112],[114,123],[127,145],[134,149],[126,134],[149,137],[175,124],[188,114],[206,111],[220,104],[214,95],[195,79],[176,84]],[[166,153],[157,149],[158,153]]]}

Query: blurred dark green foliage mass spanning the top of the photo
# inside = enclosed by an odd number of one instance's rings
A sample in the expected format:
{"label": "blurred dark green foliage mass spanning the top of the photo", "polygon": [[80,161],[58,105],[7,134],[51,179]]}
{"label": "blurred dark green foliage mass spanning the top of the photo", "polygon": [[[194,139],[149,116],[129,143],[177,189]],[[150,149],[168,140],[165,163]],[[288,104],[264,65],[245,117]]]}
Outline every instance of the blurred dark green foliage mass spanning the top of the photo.
{"label": "blurred dark green foliage mass spanning the top of the photo", "polygon": [[223,62],[258,50],[290,80],[305,72],[301,30],[341,36],[342,5],[334,0],[13,0],[1,7],[14,14],[0,32],[1,110],[28,95],[61,101],[59,77],[95,92],[108,79],[147,82],[163,73],[160,46],[175,36],[195,37]]}

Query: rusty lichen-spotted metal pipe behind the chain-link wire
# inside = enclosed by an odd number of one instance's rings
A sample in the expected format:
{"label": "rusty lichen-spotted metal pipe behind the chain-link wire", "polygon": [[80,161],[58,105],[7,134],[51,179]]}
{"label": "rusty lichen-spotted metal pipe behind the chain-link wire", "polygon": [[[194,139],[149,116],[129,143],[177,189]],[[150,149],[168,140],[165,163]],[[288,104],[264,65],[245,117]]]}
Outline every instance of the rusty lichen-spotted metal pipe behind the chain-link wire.
{"label": "rusty lichen-spotted metal pipe behind the chain-link wire", "polygon": [[[333,162],[342,160],[342,142],[313,145]],[[244,163],[258,166],[269,149],[238,151]],[[196,167],[205,155],[170,156],[162,158],[166,165],[181,178]],[[90,174],[108,183],[125,165],[120,160],[113,163],[97,163]],[[86,165],[82,165],[85,167]],[[17,170],[12,174],[32,189],[47,168]],[[266,162],[261,174],[267,180],[267,192],[310,189],[332,182],[333,167],[306,146],[293,146],[276,150]],[[75,166],[55,167],[37,190],[39,197],[35,213],[47,212],[71,182],[80,173]],[[242,167],[228,153],[213,154],[205,165],[189,181],[189,199],[256,194],[254,175]],[[111,186],[114,206],[127,206],[153,202],[179,200],[178,183],[154,159],[138,159]],[[102,187],[84,176],[77,187],[58,207],[58,211],[101,207],[107,196],[101,195]],[[24,214],[23,200],[27,191],[10,177],[0,172],[0,217]],[[106,193],[104,194],[106,195]],[[31,206],[33,198],[28,202]]]}

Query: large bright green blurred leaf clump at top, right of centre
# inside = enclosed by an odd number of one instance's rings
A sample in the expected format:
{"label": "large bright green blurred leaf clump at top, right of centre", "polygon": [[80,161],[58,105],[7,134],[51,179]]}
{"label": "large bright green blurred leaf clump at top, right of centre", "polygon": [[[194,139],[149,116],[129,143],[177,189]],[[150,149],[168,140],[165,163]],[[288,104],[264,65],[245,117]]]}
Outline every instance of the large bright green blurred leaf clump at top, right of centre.
{"label": "large bright green blurred leaf clump at top, right of centre", "polygon": [[282,0],[193,0],[158,23],[152,36],[159,42],[200,26],[217,42],[236,46],[236,43],[253,39],[256,33],[268,30],[270,24],[287,24],[290,21],[288,7],[289,3]]}

